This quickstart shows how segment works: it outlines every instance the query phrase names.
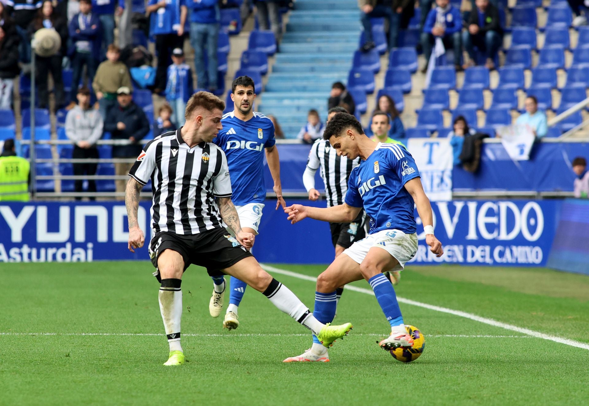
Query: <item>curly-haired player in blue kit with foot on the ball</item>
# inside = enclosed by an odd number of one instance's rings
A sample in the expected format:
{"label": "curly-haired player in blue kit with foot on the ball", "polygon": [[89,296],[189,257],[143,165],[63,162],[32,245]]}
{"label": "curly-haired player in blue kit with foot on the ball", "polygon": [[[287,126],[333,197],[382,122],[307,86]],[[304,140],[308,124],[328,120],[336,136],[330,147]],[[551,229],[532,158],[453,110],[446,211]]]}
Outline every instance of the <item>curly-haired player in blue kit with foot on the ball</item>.
{"label": "curly-haired player in blue kit with foot on the ball", "polygon": [[[327,123],[323,138],[340,156],[360,157],[360,164],[350,174],[345,203],[338,206],[307,207],[300,204],[286,207],[288,219],[294,224],[305,217],[324,222],[348,223],[358,216],[362,207],[370,217],[369,235],[353,243],[317,278],[315,314],[322,323],[331,322],[336,310],[336,289],[355,280],[366,279],[391,325],[391,335],[379,342],[387,351],[408,348],[413,339],[403,323],[395,289],[382,274],[402,270],[415,256],[417,234],[413,207],[417,207],[425,230],[425,242],[437,256],[444,253],[434,236],[432,207],[423,192],[419,171],[409,152],[398,144],[375,143],[364,134],[362,126],[351,114],[337,113]],[[302,355],[284,362],[329,361],[327,348],[313,336],[313,346]]]}

